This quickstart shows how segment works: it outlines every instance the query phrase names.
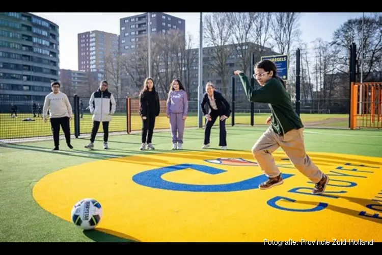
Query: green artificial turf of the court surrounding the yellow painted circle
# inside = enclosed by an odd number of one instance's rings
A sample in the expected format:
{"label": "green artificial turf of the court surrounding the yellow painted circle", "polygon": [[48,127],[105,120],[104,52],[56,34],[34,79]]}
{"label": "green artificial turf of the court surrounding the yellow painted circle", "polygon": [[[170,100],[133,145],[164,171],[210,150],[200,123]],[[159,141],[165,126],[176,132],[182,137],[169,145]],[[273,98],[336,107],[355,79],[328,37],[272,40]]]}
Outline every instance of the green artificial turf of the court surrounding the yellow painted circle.
{"label": "green artificial turf of the court surrounding the yellow painted circle", "polygon": [[[313,117],[309,115],[307,117]],[[323,116],[320,116],[323,117]],[[19,121],[19,119],[16,119]],[[258,119],[258,121],[260,121]],[[37,124],[37,123],[32,123]],[[253,143],[266,129],[256,127],[227,127],[229,149],[250,151]],[[219,130],[213,129],[211,146],[218,148]],[[305,134],[307,151],[382,157],[382,131],[350,131],[309,129]],[[107,159],[107,155],[126,157],[171,151],[171,136],[154,133],[154,151],[140,151],[140,134],[110,137],[111,150],[102,149],[97,137],[95,150],[84,148],[86,139],[73,139],[73,150],[51,151],[51,141],[0,145],[0,242],[124,242],[127,240],[102,232],[83,232],[71,222],[64,221],[41,209],[34,201],[32,189],[46,174],[86,162]],[[203,130],[187,130],[184,148],[201,150]],[[173,151],[177,153],[177,151]],[[201,151],[201,153],[203,153]],[[222,152],[223,153],[223,152]],[[105,175],[107,175],[105,169]],[[71,187],[68,187],[70,189]],[[75,188],[75,187],[72,187]],[[47,191],[49,192],[49,191]],[[60,198],[57,198],[60,203]],[[68,212],[70,213],[70,212]],[[126,215],[128,217],[128,215]],[[351,220],[351,219],[350,219]]]}

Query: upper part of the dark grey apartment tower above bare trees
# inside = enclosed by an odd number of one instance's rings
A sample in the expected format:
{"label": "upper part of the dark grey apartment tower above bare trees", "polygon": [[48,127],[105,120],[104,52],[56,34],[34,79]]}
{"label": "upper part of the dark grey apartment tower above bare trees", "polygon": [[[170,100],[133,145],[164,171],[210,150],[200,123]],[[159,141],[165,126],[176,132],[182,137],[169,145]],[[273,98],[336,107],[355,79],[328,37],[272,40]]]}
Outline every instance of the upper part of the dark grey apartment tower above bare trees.
{"label": "upper part of the dark grey apartment tower above bare trees", "polygon": [[[148,33],[148,13],[120,19],[120,52],[122,55],[134,49],[140,36]],[[185,20],[162,12],[150,12],[151,33],[180,30],[185,38]]]}

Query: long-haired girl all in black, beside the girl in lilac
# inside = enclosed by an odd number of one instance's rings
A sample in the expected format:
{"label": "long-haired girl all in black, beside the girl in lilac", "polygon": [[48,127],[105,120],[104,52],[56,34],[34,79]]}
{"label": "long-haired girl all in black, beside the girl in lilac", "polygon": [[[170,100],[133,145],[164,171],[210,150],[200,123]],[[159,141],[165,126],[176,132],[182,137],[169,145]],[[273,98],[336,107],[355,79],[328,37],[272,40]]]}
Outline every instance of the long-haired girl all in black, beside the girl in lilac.
{"label": "long-haired girl all in black, beside the girl in lilac", "polygon": [[154,80],[152,78],[146,78],[139,97],[139,114],[142,118],[142,145],[140,149],[155,149],[151,142],[155,118],[159,115],[160,105],[158,92],[155,91]]}

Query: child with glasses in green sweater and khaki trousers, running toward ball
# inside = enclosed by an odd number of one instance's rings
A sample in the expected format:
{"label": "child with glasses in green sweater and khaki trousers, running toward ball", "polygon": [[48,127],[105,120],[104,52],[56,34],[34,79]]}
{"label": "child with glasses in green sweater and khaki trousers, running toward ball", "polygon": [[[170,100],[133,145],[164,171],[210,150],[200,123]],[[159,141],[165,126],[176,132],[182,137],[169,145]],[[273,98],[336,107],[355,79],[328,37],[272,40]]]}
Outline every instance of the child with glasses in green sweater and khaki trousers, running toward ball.
{"label": "child with glasses in green sweater and khaki trousers, running toward ball", "polygon": [[271,155],[281,147],[293,165],[316,184],[312,193],[321,194],[329,182],[329,177],[323,174],[306,154],[304,125],[293,110],[284,81],[277,76],[276,65],[269,60],[263,60],[254,66],[254,71],[254,78],[261,86],[258,89],[252,88],[242,71],[234,73],[239,75],[248,100],[268,103],[272,113],[266,120],[266,123],[271,125],[252,147],[254,158],[268,176],[268,180],[260,184],[259,188],[269,189],[283,184],[280,170]]}

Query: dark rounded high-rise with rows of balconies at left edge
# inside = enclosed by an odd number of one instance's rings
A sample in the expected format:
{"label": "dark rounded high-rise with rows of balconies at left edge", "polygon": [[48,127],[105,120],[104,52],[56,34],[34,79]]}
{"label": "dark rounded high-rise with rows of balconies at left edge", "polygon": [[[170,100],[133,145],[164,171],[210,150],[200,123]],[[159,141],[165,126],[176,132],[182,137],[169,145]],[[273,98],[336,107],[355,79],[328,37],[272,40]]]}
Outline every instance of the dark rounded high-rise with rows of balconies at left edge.
{"label": "dark rounded high-rise with rows of balconies at left edge", "polygon": [[59,26],[31,13],[1,12],[1,104],[43,102],[58,80]]}

